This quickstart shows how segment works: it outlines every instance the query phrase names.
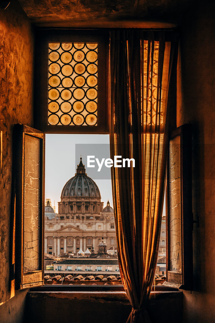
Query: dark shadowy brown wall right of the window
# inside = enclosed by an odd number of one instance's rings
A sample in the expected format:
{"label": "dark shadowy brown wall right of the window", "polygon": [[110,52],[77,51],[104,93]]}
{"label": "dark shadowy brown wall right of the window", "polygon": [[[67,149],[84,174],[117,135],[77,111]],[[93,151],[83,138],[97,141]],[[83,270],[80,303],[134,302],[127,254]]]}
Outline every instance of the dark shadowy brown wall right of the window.
{"label": "dark shadowy brown wall right of the window", "polygon": [[178,126],[193,126],[192,207],[194,291],[184,292],[184,320],[215,322],[215,71],[212,1],[194,8],[181,21],[182,101]]}

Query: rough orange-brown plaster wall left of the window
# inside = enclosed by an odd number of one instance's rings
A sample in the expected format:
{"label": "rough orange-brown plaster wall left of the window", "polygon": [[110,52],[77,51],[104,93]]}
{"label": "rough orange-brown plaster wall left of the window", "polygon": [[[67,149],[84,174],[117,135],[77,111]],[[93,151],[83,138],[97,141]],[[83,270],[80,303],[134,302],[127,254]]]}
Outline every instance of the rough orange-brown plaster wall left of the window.
{"label": "rough orange-brown plaster wall left of the window", "polygon": [[[15,123],[33,126],[34,37],[18,2],[0,9],[0,322],[22,322],[26,291],[9,282],[12,132]],[[2,142],[2,145],[1,145]]]}

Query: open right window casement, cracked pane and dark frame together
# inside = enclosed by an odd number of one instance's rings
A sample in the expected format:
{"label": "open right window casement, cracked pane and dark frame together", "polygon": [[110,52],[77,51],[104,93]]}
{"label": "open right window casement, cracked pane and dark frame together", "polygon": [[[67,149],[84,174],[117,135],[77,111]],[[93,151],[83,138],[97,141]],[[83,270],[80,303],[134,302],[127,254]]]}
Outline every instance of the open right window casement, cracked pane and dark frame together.
{"label": "open right window casement, cracked pane and dark frame together", "polygon": [[185,124],[171,132],[166,181],[167,279],[163,285],[192,290],[192,135]]}

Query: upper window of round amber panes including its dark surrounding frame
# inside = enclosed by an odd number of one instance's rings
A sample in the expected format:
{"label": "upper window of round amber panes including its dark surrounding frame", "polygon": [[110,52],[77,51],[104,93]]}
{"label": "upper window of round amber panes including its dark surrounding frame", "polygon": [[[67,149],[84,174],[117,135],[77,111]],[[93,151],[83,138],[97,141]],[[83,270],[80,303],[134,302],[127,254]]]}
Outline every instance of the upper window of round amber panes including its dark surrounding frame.
{"label": "upper window of round amber panes including its dark surrounding frame", "polygon": [[[52,35],[49,31],[37,32],[36,127],[52,133],[80,133],[80,127],[88,128],[81,132],[108,133],[108,36],[108,32],[96,30],[93,35],[89,30],[56,30]],[[46,83],[41,87],[44,76],[48,89]]]}

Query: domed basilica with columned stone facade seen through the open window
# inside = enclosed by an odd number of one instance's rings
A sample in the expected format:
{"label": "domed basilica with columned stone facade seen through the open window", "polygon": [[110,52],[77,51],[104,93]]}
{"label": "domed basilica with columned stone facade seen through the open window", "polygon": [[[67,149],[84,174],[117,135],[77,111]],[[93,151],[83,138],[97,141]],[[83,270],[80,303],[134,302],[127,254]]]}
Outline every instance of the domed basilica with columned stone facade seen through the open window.
{"label": "domed basilica with columned stone facade seen through the open window", "polygon": [[113,208],[103,207],[97,184],[87,176],[80,158],[77,172],[65,184],[56,214],[45,206],[45,253],[77,255],[78,251],[98,252],[98,244],[107,243],[107,251],[116,255],[116,229]]}

